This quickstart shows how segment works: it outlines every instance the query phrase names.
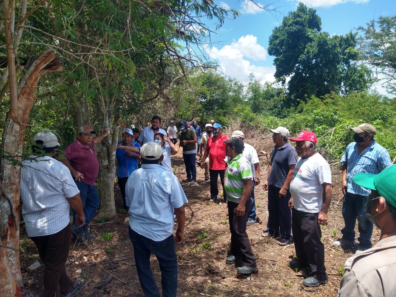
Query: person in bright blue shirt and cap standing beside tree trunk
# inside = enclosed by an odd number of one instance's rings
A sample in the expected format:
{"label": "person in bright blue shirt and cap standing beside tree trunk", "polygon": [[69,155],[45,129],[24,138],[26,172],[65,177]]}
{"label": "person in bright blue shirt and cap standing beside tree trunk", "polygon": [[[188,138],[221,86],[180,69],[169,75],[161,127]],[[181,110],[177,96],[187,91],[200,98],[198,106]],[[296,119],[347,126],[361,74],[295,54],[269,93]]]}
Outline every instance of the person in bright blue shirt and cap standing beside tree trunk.
{"label": "person in bright blue shirt and cap standing beside tree trunk", "polygon": [[139,150],[140,148],[140,144],[132,140],[133,134],[133,130],[124,129],[124,131],[122,131],[122,140],[118,142],[116,150],[118,186],[120,187],[122,203],[126,210],[128,210],[128,207],[125,201],[125,185],[129,175],[138,168],[138,161],[140,160],[139,151],[131,152],[126,149],[134,147]]}

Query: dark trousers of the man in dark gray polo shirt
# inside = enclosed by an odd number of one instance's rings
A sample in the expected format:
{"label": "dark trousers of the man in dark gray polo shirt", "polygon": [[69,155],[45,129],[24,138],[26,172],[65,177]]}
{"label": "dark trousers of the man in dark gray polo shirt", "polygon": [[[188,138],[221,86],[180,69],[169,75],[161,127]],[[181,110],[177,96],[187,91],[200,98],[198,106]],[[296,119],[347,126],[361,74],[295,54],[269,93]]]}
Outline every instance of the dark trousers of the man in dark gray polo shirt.
{"label": "dark trousers of the man in dark gray polo shirt", "polygon": [[280,188],[268,185],[268,232],[274,237],[291,239],[291,213],[289,209],[290,191],[280,196]]}

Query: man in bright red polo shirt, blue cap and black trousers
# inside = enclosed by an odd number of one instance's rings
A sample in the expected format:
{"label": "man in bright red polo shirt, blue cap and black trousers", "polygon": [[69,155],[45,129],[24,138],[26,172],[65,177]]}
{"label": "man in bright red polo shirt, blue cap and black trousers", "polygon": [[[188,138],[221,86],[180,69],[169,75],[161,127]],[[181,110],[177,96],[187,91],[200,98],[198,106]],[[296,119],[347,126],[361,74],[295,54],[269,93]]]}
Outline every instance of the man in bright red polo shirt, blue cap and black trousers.
{"label": "man in bright red polo shirt, blue cap and black trousers", "polygon": [[[208,139],[206,143],[206,149],[204,157],[202,158],[201,168],[204,169],[205,160],[209,158],[209,176],[210,176],[210,202],[216,202],[217,195],[219,194],[219,188],[217,187],[217,179],[220,175],[221,185],[223,187],[224,196],[224,175],[225,175],[225,147],[226,144],[223,142],[229,140],[229,138],[221,133],[221,125],[215,123],[213,125],[213,136]],[[225,197],[225,196],[224,196]],[[224,198],[223,197],[223,198]],[[226,198],[224,198],[226,201]]]}

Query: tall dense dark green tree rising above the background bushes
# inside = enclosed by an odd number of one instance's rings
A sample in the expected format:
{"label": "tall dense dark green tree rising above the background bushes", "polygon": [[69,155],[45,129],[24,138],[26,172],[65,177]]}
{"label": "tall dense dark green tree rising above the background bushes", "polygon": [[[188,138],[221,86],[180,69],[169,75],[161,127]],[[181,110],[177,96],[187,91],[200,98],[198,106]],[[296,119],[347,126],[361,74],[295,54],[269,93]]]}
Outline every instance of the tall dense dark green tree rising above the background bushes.
{"label": "tall dense dark green tree rising above the background bushes", "polygon": [[321,97],[332,91],[346,95],[369,88],[371,72],[358,64],[356,34],[322,32],[316,10],[302,3],[283,18],[269,38],[268,54],[275,56],[275,77],[283,85],[288,80],[291,105],[312,95]]}

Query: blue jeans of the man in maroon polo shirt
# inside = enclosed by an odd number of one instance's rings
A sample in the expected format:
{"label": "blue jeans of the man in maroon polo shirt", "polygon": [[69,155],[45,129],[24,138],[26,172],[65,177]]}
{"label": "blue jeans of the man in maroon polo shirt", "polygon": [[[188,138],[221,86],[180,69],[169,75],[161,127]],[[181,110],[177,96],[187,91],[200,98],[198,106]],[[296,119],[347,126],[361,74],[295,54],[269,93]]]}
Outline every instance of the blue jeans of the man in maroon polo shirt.
{"label": "blue jeans of the man in maroon polo shirt", "polygon": [[[82,181],[75,181],[75,183],[80,190],[82,207],[84,208],[85,226],[82,229],[85,231],[99,207],[99,194],[95,185],[91,186]],[[76,214],[76,211],[73,209],[73,220]]]}

